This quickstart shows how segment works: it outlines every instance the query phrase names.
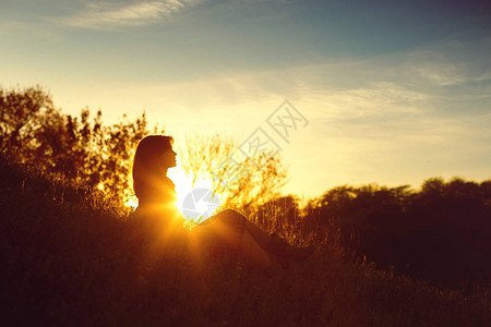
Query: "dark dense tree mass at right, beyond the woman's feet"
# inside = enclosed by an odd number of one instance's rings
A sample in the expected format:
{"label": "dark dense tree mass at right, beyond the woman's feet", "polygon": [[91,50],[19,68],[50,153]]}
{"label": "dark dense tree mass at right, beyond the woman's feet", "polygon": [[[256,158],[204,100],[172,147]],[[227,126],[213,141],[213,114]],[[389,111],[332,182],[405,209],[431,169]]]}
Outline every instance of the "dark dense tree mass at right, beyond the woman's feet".
{"label": "dark dense tree mass at right, beyond the woman's feet", "polygon": [[490,282],[490,185],[436,178],[419,192],[407,185],[339,186],[311,201],[306,215],[324,226],[335,221],[343,246],[381,268],[471,289]]}

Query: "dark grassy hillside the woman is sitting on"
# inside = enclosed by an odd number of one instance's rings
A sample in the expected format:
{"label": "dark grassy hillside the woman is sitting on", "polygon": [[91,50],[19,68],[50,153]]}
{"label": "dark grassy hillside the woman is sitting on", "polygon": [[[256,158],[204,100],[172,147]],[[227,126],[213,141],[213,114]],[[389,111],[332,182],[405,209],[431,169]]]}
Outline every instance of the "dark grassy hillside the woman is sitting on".
{"label": "dark grassy hillside the woman is sitting on", "polygon": [[260,270],[149,255],[131,216],[61,177],[0,159],[0,324],[486,326],[489,292],[464,298],[323,249]]}

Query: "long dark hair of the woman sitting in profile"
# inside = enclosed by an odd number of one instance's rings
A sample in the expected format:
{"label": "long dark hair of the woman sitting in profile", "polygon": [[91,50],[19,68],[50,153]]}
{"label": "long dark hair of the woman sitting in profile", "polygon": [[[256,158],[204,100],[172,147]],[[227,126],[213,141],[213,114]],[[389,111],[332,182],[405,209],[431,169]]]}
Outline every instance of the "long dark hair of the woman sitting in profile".
{"label": "long dark hair of the woman sitting in profile", "polygon": [[172,144],[171,136],[163,135],[151,135],[140,141],[133,160],[133,190],[136,197],[141,198],[165,177],[158,159],[165,152],[172,149]]}

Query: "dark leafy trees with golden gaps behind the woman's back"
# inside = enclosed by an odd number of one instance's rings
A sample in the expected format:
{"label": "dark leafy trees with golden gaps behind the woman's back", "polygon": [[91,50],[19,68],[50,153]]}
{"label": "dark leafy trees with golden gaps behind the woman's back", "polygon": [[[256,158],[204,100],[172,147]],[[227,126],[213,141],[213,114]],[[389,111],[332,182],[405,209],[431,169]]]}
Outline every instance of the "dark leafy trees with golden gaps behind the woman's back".
{"label": "dark leafy trees with golden gaps behind the woman's back", "polygon": [[1,149],[35,162],[47,172],[100,189],[107,197],[124,201],[131,194],[130,169],[135,147],[148,134],[145,113],[131,122],[103,124],[99,110],[93,119],[87,108],[80,118],[56,109],[39,86],[0,88]]}

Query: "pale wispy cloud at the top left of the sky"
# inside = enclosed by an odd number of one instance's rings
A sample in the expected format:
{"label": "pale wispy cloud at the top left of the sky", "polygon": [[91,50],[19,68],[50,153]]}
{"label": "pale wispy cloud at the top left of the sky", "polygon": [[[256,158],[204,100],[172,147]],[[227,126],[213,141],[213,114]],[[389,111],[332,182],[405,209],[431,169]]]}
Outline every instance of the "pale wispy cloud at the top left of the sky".
{"label": "pale wispy cloud at the top left of the sky", "polygon": [[132,1],[123,4],[91,2],[81,12],[56,17],[53,21],[60,25],[88,29],[143,26],[168,20],[195,2],[187,0]]}

